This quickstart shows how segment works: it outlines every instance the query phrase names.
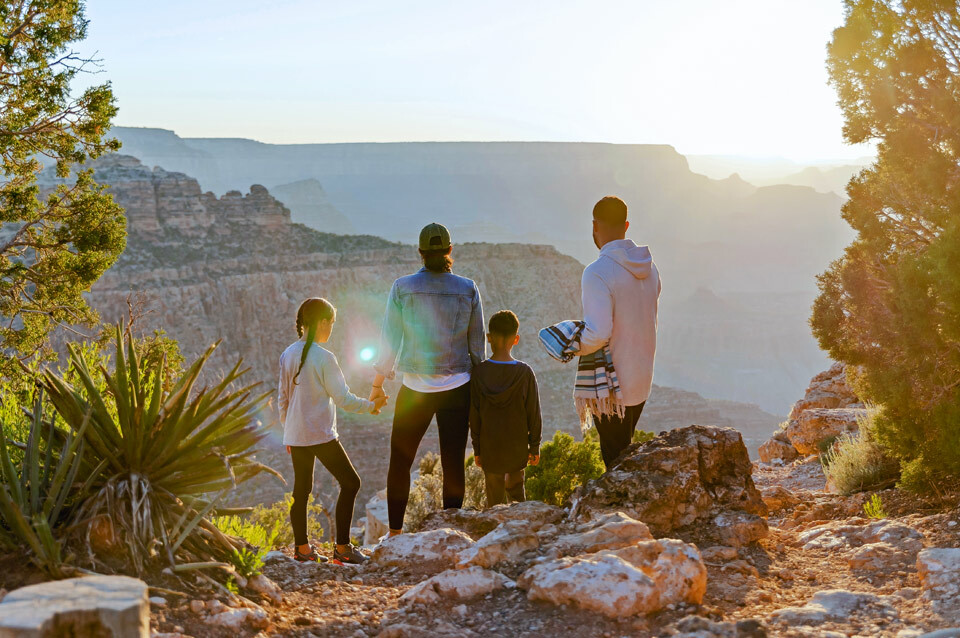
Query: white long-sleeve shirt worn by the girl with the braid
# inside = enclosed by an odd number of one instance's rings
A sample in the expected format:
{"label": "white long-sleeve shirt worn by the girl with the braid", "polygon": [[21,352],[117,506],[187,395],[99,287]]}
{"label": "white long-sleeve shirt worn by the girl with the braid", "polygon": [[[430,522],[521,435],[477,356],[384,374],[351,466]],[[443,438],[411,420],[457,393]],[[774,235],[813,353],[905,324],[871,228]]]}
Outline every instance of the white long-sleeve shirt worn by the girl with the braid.
{"label": "white long-sleeve shirt worn by the girl with the braid", "polygon": [[301,339],[280,355],[280,383],[277,404],[283,425],[283,444],[308,446],[337,438],[337,406],[347,412],[370,412],[373,402],[350,392],[337,357],[319,344],[310,346],[303,370],[294,385],[300,356],[306,342]]}

